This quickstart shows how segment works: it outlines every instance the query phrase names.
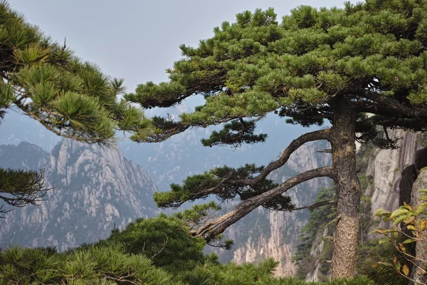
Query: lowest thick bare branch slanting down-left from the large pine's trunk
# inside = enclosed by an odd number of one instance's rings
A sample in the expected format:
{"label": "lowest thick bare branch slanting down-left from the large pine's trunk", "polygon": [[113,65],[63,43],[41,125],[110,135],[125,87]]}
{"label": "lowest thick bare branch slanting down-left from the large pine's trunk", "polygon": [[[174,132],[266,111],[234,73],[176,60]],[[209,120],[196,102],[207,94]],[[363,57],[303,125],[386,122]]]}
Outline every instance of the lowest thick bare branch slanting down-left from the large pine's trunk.
{"label": "lowest thick bare branch slanting down-left from the large pine's trunk", "polygon": [[223,216],[218,219],[210,222],[209,224],[205,224],[204,226],[199,227],[194,232],[191,232],[196,237],[204,237],[206,241],[210,241],[218,234],[224,232],[225,229],[230,227],[232,224],[236,223],[239,219],[245,217],[249,214],[253,209],[261,206],[265,202],[268,202],[270,199],[274,199],[279,195],[282,195],[284,192],[290,190],[290,188],[298,185],[307,180],[312,180],[317,177],[333,177],[334,172],[332,167],[320,167],[315,170],[309,170],[301,173],[300,175],[296,175],[292,177],[278,187],[273,188],[267,192],[264,192],[261,195],[251,197],[246,199],[245,201],[238,204],[233,210],[230,212],[223,214]]}

